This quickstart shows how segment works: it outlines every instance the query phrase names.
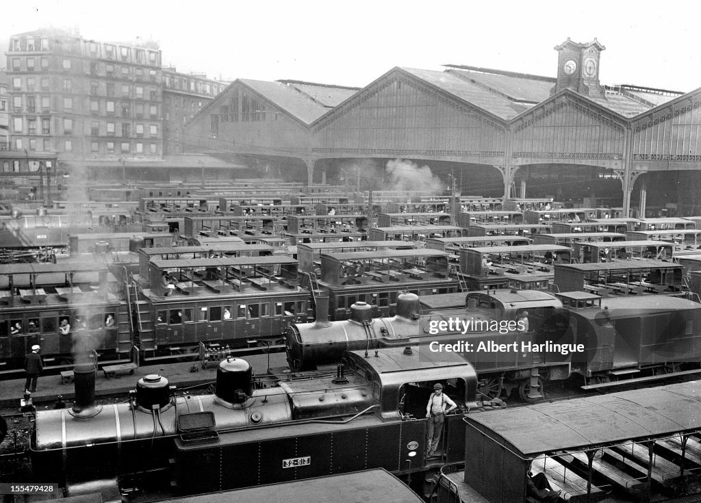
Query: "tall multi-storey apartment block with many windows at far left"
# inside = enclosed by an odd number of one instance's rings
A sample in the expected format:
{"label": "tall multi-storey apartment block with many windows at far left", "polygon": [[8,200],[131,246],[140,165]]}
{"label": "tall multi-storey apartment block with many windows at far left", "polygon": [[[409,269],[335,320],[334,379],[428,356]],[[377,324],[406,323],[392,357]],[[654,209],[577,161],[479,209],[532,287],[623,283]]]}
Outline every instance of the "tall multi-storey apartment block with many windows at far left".
{"label": "tall multi-storey apartment block with many windows at far left", "polygon": [[9,148],[62,160],[160,158],[161,50],[58,29],[13,35],[7,55]]}

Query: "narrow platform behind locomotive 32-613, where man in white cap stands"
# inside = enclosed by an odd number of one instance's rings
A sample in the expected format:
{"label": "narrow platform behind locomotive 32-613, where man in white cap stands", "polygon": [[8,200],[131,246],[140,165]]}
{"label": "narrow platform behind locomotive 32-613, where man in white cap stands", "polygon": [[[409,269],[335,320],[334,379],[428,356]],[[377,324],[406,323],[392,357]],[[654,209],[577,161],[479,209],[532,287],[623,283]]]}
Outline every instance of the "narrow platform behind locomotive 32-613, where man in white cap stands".
{"label": "narrow platform behind locomotive 32-613, where man in white cap stands", "polygon": [[[269,367],[285,366],[285,353],[252,354],[243,357],[253,367],[255,375],[266,373]],[[191,371],[196,369],[196,371]],[[199,361],[184,361],[179,363],[161,363],[139,366],[132,375],[109,375],[102,371],[102,365],[95,375],[95,397],[105,397],[113,394],[123,394],[126,398],[129,390],[134,390],[137,381],[144,375],[159,374],[168,378],[172,385],[179,388],[206,385],[217,378],[217,366],[201,368]],[[20,407],[20,399],[25,393],[25,378],[0,381],[0,407]],[[32,402],[37,407],[50,407],[61,395],[64,401],[72,401],[75,396],[74,385],[62,377],[60,373],[39,377],[36,392],[32,393]]]}

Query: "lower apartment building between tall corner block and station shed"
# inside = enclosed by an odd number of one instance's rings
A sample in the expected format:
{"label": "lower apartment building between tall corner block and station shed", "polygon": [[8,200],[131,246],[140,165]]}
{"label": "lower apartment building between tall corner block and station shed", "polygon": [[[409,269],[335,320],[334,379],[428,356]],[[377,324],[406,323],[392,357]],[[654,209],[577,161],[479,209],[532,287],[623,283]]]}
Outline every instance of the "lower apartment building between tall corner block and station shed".
{"label": "lower apartment building between tall corner block and station shed", "polygon": [[175,67],[163,68],[163,153],[187,150],[185,124],[203,106],[226,88],[227,83],[202,74],[179,73]]}

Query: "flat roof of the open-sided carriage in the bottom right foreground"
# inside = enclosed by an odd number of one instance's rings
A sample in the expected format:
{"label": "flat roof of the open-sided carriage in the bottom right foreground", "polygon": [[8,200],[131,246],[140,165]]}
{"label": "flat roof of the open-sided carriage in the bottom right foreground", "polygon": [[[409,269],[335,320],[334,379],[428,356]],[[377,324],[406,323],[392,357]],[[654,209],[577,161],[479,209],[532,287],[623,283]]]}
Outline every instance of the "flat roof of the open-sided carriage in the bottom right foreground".
{"label": "flat roof of the open-sided carriage in the bottom right foreground", "polygon": [[524,457],[664,437],[701,428],[701,383],[490,411],[467,421],[501,437]]}

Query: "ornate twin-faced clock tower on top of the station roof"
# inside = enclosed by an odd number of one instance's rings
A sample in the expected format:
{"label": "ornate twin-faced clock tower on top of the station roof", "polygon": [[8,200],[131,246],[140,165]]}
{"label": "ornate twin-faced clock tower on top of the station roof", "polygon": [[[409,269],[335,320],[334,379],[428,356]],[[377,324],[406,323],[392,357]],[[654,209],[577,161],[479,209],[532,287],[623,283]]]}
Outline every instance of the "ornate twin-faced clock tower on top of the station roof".
{"label": "ornate twin-faced clock tower on top of the station roof", "polygon": [[554,94],[569,88],[585,96],[604,96],[599,84],[599,58],[606,49],[597,39],[589,43],[564,41],[557,50],[557,83],[552,88]]}

